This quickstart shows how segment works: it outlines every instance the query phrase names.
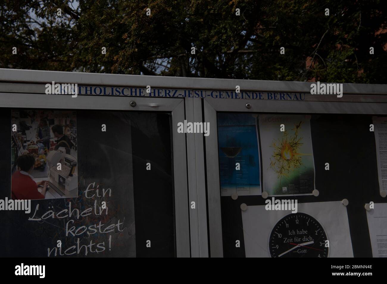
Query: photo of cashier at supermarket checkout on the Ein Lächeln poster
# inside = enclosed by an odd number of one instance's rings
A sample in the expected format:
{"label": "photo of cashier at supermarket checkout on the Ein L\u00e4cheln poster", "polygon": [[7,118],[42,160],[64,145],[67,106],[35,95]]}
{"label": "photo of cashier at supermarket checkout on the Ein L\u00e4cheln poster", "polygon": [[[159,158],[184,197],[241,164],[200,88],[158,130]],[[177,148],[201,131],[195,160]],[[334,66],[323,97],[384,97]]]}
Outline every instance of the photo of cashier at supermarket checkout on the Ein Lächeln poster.
{"label": "photo of cashier at supermarket checkout on the Ein L\u00e4cheln poster", "polygon": [[12,199],[78,196],[76,112],[11,113]]}

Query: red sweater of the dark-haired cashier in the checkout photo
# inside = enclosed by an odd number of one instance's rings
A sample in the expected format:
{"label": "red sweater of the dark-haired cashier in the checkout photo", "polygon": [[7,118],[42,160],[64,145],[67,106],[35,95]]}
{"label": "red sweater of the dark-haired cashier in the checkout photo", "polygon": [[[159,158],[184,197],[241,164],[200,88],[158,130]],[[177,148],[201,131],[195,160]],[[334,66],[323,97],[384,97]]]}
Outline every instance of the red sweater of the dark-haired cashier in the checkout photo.
{"label": "red sweater of the dark-haired cashier in the checkout photo", "polygon": [[16,171],[12,175],[12,194],[16,199],[44,199],[45,197],[38,191],[38,185],[28,175],[23,175]]}

